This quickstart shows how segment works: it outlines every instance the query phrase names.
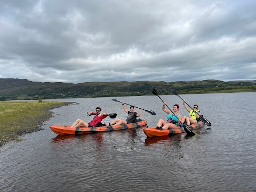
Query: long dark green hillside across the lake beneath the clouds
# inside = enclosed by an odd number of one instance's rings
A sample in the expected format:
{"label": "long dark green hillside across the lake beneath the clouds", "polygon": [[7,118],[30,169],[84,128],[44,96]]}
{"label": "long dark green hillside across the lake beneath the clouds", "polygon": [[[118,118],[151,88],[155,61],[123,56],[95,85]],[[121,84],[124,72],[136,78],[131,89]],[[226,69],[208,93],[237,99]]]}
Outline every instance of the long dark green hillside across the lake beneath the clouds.
{"label": "long dark green hillside across the lake beneath the clouds", "polygon": [[0,100],[57,99],[86,97],[117,97],[135,95],[153,95],[154,86],[159,95],[172,94],[175,89],[179,94],[253,92],[256,84],[250,81],[223,82],[214,79],[190,82],[87,82],[87,83],[42,83],[27,79],[0,78]]}

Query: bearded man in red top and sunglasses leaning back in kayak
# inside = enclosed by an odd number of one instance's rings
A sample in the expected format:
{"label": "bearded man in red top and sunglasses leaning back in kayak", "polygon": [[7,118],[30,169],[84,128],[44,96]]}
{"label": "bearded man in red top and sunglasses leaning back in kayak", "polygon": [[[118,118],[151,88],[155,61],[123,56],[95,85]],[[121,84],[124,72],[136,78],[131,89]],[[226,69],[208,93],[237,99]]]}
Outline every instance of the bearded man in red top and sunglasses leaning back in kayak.
{"label": "bearded man in red top and sunglasses leaning back in kayak", "polygon": [[77,119],[76,122],[71,126],[74,128],[80,127],[81,125],[83,127],[94,127],[94,126],[105,126],[101,123],[103,119],[107,117],[107,113],[102,113],[101,108],[97,107],[96,112],[89,112],[87,116],[95,115],[89,123],[85,123],[82,119]]}

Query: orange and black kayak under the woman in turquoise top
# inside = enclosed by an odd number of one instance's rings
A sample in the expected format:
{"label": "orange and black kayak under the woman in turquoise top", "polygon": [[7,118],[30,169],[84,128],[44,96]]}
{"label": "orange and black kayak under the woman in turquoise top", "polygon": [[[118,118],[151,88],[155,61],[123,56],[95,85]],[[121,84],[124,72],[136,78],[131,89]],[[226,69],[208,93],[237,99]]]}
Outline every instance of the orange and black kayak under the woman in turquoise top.
{"label": "orange and black kayak under the woman in turquoise top", "polygon": [[[191,131],[204,127],[204,122],[199,121],[195,124],[188,125],[189,129]],[[155,127],[151,128],[144,128],[143,132],[148,136],[148,137],[155,137],[155,136],[165,136],[165,135],[172,135],[172,134],[178,134],[178,133],[184,133],[185,130],[183,127],[179,127],[177,129],[171,129],[171,130],[157,130]]]}

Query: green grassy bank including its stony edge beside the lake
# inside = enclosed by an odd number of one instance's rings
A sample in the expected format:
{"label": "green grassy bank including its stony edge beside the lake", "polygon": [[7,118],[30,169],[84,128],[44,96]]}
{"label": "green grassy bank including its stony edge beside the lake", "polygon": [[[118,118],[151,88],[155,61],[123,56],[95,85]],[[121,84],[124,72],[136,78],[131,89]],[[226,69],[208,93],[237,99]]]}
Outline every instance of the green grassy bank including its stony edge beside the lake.
{"label": "green grassy bank including its stony edge beside the lake", "polygon": [[50,109],[69,104],[60,101],[1,101],[0,146],[20,140],[22,134],[41,130],[42,122],[51,117]]}

